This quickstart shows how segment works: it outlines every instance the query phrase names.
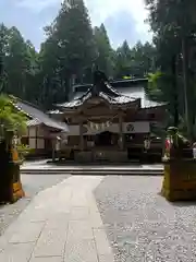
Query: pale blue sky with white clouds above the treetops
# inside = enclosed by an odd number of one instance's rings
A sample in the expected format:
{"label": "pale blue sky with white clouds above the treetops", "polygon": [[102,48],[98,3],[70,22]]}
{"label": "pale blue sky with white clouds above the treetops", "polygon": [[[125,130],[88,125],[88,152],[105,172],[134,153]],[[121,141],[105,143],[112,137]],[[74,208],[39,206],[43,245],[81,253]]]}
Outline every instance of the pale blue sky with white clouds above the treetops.
{"label": "pale blue sky with white clouds above the treetops", "polygon": [[[0,0],[0,22],[16,26],[36,49],[45,39],[42,27],[56,17],[62,0]],[[84,0],[93,25],[105,23],[111,44],[131,46],[151,39],[144,0]]]}

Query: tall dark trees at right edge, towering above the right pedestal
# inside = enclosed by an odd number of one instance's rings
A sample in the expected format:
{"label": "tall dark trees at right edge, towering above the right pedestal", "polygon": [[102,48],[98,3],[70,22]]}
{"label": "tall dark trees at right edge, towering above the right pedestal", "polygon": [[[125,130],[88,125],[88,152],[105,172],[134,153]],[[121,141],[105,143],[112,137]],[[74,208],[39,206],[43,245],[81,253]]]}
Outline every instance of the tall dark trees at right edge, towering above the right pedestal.
{"label": "tall dark trees at right edge, towering above the right pedestal", "polygon": [[169,103],[171,123],[196,139],[196,1],[145,0],[157,72],[149,94]]}

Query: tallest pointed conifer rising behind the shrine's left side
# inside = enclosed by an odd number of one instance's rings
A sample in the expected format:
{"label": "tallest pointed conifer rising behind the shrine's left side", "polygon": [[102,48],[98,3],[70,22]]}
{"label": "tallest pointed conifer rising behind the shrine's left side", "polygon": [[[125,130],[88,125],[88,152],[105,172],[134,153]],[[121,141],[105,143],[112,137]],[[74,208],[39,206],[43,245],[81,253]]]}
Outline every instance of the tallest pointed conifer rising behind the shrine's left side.
{"label": "tallest pointed conifer rising behind the shrine's left side", "polygon": [[40,50],[39,103],[46,107],[68,100],[73,82],[86,82],[95,59],[95,44],[88,12],[83,1],[62,4],[46,28],[48,38]]}

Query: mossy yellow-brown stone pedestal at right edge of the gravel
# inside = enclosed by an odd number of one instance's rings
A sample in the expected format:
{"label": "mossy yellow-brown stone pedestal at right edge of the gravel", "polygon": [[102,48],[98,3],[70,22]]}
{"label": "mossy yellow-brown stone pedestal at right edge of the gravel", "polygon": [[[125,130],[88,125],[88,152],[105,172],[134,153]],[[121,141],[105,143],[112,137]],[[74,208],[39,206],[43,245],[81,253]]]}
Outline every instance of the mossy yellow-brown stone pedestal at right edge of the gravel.
{"label": "mossy yellow-brown stone pedestal at right edge of the gravel", "polygon": [[161,194],[169,201],[196,200],[196,160],[174,158],[163,164]]}

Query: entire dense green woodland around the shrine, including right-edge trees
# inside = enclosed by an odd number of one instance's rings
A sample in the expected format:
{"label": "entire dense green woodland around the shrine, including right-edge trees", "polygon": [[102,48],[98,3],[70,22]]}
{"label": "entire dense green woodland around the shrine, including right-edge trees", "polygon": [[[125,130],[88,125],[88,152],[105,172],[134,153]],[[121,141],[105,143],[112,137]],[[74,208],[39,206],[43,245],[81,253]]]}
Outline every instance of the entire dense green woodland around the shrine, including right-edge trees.
{"label": "entire dense green woodland around the shrine, including right-edge trees", "polygon": [[[196,1],[145,0],[152,43],[114,50],[103,24],[93,27],[83,0],[61,5],[36,51],[16,27],[0,25],[1,92],[51,108],[73,83],[91,82],[93,64],[110,79],[148,75],[148,95],[168,102],[170,123],[193,136],[196,100]],[[127,32],[128,34],[128,32]]]}

